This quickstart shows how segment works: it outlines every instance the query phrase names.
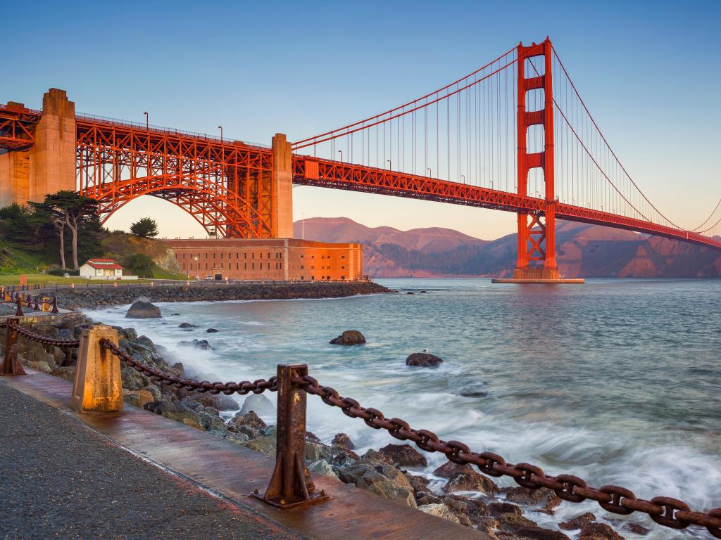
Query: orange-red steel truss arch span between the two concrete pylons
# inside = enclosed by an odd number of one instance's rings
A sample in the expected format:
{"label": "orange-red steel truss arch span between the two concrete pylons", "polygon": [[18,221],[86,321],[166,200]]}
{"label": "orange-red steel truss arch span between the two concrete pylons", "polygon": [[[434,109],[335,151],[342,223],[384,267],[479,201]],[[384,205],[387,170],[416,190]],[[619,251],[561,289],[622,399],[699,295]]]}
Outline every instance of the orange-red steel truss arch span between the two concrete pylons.
{"label": "orange-red steel truss arch span between the two concrete pylons", "polygon": [[77,121],[77,133],[78,189],[99,202],[103,222],[147,194],[183,208],[208,232],[271,236],[269,202],[255,194],[270,181],[270,150],[87,120]]}

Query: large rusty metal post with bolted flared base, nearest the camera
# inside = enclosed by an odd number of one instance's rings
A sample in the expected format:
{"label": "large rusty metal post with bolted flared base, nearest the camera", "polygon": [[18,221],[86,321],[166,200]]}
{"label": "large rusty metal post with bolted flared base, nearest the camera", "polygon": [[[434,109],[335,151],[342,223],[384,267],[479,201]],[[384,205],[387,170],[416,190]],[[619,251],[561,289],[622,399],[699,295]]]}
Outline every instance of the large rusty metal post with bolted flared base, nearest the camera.
{"label": "large rusty metal post with bolted flared base, nearest the camera", "polygon": [[293,382],[293,377],[307,374],[305,364],[278,366],[275,470],[265,494],[253,493],[276,508],[329,499],[325,492],[316,492],[306,467],[306,392]]}

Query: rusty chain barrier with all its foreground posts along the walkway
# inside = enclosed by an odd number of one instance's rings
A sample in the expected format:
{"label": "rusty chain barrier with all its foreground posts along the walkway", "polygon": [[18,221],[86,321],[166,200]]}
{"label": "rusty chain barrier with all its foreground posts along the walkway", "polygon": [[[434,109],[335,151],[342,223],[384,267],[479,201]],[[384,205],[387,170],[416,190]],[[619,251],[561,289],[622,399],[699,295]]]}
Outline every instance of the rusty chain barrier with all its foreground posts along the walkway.
{"label": "rusty chain barrier with all its foreground posts along the walkway", "polygon": [[326,405],[340,408],[349,418],[361,418],[370,428],[386,430],[394,438],[411,441],[423,451],[444,454],[453,463],[477,467],[488,476],[513,478],[518,485],[529,490],[545,487],[571,503],[595,500],[604,510],[622,516],[645,513],[655,523],[668,528],[704,527],[709,534],[721,539],[721,508],[698,512],[675,498],[645,500],[637,498],[626,487],[591,487],[572,474],[551,475],[533,464],[511,464],[498,454],[472,451],[460,441],[444,441],[432,431],[412,428],[401,418],[386,418],[378,409],[363,407],[352,397],[343,397],[334,388],[324,386],[311,377],[305,364],[280,364],[273,377],[252,382],[198,381],[164,372],[157,366],[134,358],[118,346],[118,330],[110,326],[84,328],[79,340],[58,340],[32,333],[20,326],[19,318],[10,318],[0,323],[0,328],[2,326],[6,328],[6,343],[0,375],[25,373],[17,359],[18,336],[46,345],[79,349],[71,408],[81,413],[122,410],[120,362],[154,382],[188,392],[214,395],[221,392],[225,395],[278,392],[275,471],[265,493],[251,494],[278,508],[302,506],[329,498],[326,492],[317,492],[305,462],[306,397],[317,395]]}

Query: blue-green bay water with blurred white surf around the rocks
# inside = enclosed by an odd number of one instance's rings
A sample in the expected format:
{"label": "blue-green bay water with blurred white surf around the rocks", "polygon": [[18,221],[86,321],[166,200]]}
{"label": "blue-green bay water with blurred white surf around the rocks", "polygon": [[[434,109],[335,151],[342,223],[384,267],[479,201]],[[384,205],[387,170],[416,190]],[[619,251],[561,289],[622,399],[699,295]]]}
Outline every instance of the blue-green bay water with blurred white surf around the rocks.
{"label": "blue-green bay water with blurred white surf around the rocks", "polygon": [[[277,364],[304,363],[341,395],[474,451],[575,474],[596,487],[622,485],[638,497],[721,507],[721,280],[378,281],[400,292],[160,304],[163,320],[124,319],[126,307],[89,315],[133,326],[211,381],[267,378]],[[181,330],[182,322],[198,328]],[[205,333],[208,327],[220,331]],[[368,343],[328,343],[348,329],[361,330]],[[208,339],[213,350],[178,345],[191,338]],[[424,349],[444,363],[405,366],[408,354]],[[359,453],[398,443],[314,396],[308,422],[325,441],[348,433]],[[426,455],[430,466],[418,472],[430,474],[445,461]],[[627,538],[711,538],[695,527],[673,531],[637,514],[611,515],[593,502],[528,517],[555,527],[585,511]],[[652,532],[636,536],[629,521]]]}

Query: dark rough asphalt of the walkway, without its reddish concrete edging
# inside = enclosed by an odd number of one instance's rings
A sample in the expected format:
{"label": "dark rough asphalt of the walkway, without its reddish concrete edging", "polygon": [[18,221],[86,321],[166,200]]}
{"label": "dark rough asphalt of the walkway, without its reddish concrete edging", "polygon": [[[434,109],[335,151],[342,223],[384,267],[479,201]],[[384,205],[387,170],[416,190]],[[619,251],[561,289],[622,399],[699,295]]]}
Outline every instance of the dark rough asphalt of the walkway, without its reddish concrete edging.
{"label": "dark rough asphalt of the walkway, without its reddish concrete edging", "polygon": [[1,539],[297,539],[0,384]]}

